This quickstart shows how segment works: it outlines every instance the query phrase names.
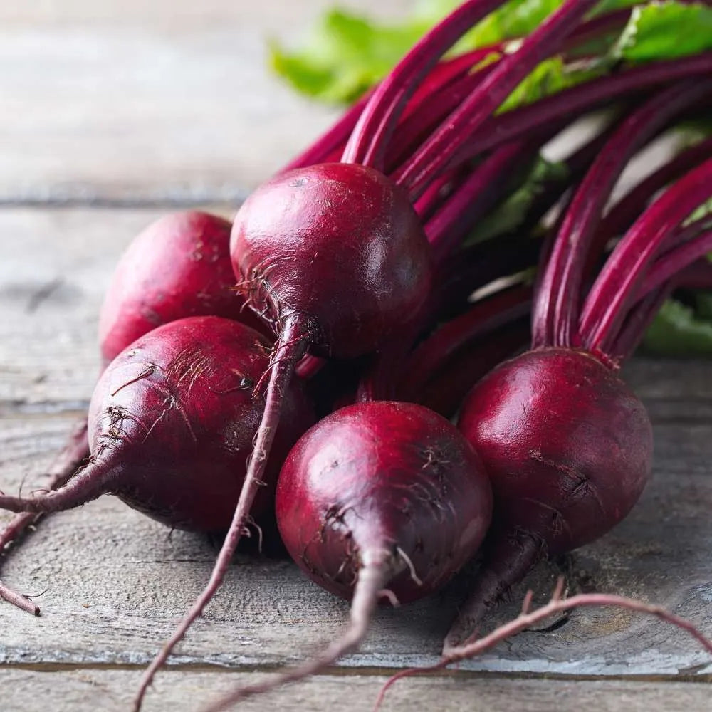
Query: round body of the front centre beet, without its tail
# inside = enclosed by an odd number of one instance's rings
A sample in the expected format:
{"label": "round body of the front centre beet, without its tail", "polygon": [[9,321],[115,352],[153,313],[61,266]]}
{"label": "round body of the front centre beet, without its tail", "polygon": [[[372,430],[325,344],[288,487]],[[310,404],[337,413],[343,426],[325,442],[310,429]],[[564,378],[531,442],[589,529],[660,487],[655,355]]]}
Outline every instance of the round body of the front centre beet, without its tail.
{"label": "round body of the front centre beet, without its tail", "polygon": [[360,553],[398,547],[406,570],[388,584],[407,602],[438,589],[475,553],[490,523],[480,459],[446,419],[422,406],[369,402],[307,431],[279,476],[277,523],[294,560],[350,597]]}

